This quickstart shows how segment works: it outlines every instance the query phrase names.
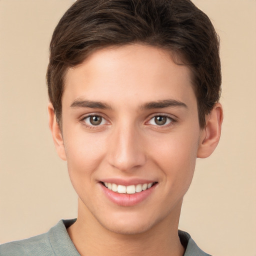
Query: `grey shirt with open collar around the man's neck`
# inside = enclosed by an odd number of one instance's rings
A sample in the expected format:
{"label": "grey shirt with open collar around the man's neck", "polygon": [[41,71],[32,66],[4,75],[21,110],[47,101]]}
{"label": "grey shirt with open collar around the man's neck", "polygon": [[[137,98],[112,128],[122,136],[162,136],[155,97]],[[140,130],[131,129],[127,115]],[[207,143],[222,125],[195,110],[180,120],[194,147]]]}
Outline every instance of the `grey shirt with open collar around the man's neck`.
{"label": "grey shirt with open collar around the man's neck", "polygon": [[[47,233],[1,244],[0,256],[80,256],[66,231],[75,220],[62,219]],[[196,245],[188,233],[178,230],[178,235],[186,248],[183,256],[210,256]]]}

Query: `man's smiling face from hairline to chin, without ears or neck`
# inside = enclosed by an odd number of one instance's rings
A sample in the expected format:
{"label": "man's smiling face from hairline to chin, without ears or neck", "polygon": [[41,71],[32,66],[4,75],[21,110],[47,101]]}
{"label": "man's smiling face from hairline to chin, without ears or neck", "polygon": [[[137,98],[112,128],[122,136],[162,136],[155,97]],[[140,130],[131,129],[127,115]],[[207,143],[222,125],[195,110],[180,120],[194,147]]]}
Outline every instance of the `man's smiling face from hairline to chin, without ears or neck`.
{"label": "man's smiling face from hairline to chin, without ears or neck", "polygon": [[103,228],[178,221],[200,135],[189,69],[164,50],[104,48],[66,74],[60,155],[78,212]]}

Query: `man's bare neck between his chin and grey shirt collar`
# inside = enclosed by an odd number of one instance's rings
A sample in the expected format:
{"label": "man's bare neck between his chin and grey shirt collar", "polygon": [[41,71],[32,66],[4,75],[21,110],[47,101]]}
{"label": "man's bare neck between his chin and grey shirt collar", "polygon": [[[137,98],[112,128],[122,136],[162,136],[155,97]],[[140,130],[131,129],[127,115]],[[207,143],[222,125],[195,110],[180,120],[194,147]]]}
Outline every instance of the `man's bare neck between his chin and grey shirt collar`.
{"label": "man's bare neck between his chin and grey shirt collar", "polygon": [[174,212],[178,217],[168,216],[142,233],[123,234],[106,229],[90,212],[84,214],[78,207],[77,220],[67,232],[81,256],[182,256],[184,248],[177,233],[180,208],[181,203]]}

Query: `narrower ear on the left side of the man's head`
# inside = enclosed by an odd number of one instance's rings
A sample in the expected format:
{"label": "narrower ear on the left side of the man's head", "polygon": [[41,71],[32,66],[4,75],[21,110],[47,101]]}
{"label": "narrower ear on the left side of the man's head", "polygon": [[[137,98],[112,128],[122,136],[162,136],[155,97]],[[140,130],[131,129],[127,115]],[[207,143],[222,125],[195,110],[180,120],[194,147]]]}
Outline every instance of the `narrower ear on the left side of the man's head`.
{"label": "narrower ear on the left side of the man's head", "polygon": [[48,115],[49,115],[49,128],[53,138],[55,148],[57,150],[58,156],[62,160],[66,160],[65,147],[63,143],[62,133],[60,127],[56,121],[56,116],[54,113],[54,108],[51,103],[48,103]]}

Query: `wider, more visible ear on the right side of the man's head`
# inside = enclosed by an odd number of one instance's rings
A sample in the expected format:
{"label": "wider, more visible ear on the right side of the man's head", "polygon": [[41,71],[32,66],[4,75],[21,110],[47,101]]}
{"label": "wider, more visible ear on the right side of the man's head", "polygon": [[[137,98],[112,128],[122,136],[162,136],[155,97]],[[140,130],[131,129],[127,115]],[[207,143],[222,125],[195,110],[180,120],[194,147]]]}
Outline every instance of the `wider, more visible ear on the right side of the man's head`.
{"label": "wider, more visible ear on the right side of the man's head", "polygon": [[223,110],[218,102],[205,118],[206,125],[201,130],[197,157],[208,157],[214,151],[220,138],[222,120]]}

